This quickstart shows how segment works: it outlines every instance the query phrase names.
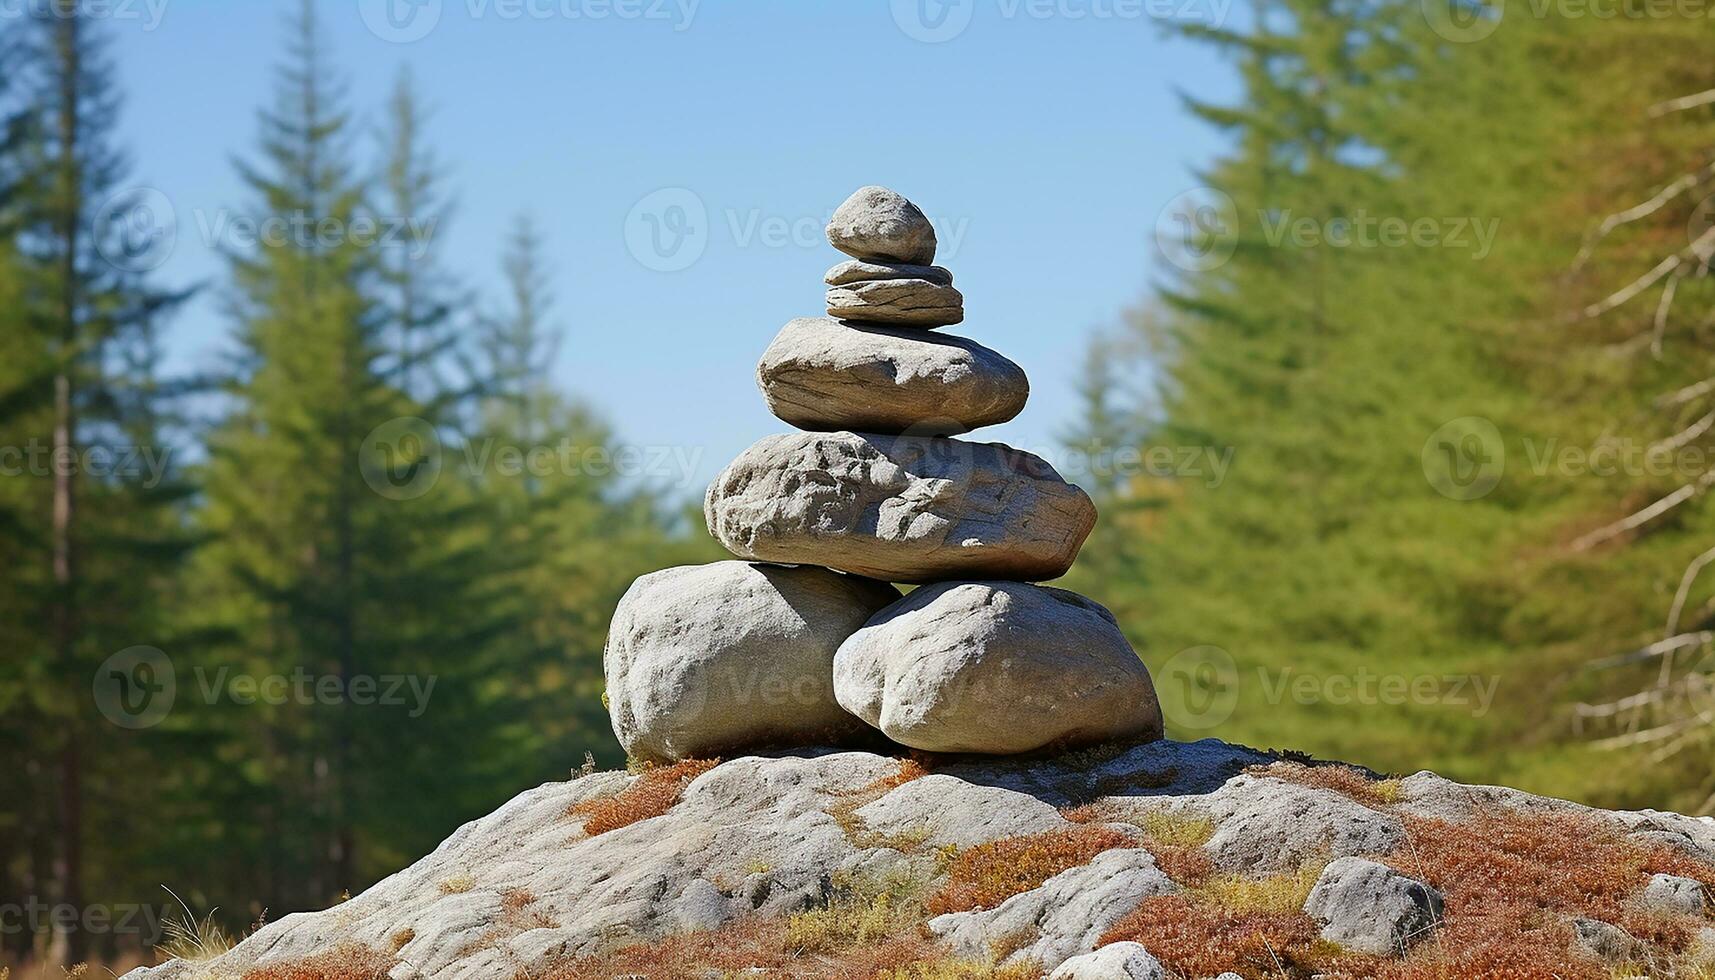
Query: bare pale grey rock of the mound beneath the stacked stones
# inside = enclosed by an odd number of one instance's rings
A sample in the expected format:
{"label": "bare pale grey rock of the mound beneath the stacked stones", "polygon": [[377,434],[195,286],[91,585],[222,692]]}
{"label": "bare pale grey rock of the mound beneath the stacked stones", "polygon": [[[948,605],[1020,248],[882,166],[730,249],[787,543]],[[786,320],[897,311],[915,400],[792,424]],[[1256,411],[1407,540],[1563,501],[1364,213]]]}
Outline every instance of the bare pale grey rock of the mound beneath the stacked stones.
{"label": "bare pale grey rock of the mound beneath the stacked stones", "polygon": [[[921,874],[919,894],[933,894],[943,874],[935,860],[943,841],[974,846],[1055,829],[1050,814],[1074,803],[1094,802],[1139,817],[1159,808],[1206,814],[1216,832],[1250,827],[1267,838],[1267,846],[1317,853],[1329,815],[1357,803],[1333,789],[1243,772],[1269,762],[1261,752],[1216,740],[1163,740],[1094,757],[943,759],[933,764],[931,776],[878,791],[902,772],[899,759],[804,750],[725,762],[691,781],[665,814],[595,838],[583,832],[583,819],[571,815],[571,807],[614,796],[638,777],[585,776],[530,789],[350,901],[271,922],[209,963],[173,961],[127,977],[240,977],[257,965],[293,963],[341,944],[396,953],[393,977],[400,980],[542,975],[569,958],[605,956],[688,929],[731,929],[753,916],[816,908],[830,899],[830,882],[839,875]],[[1429,779],[1413,779],[1420,791],[1430,791]],[[1288,786],[1302,791],[1291,796],[1291,807],[1271,808],[1266,817],[1247,810],[1267,807]],[[1470,798],[1487,789],[1435,777],[1432,793]],[[852,812],[852,803],[863,800],[871,802]],[[1410,805],[1403,800],[1391,807],[1393,814],[1379,815],[1398,817]],[[972,814],[974,807],[986,812]],[[1585,814],[1648,843],[1657,843],[1652,824],[1674,817],[1588,810],[1516,791],[1499,807],[1526,817],[1550,808]],[[1293,822],[1288,812],[1295,808],[1321,815]],[[878,826],[870,824],[871,815]],[[1706,824],[1696,817],[1679,820],[1688,827]],[[897,848],[882,846],[873,839],[883,838],[873,832],[882,824],[928,827],[930,838],[912,844],[918,836],[911,834]],[[1125,831],[1122,824],[1108,827]],[[1386,853],[1386,838],[1367,839],[1382,848],[1372,856]],[[1638,884],[1641,889],[1645,882]],[[1101,935],[1140,901],[1173,889],[1146,848],[1122,846],[991,910],[938,916],[931,927],[945,937],[948,953],[986,956],[986,944],[996,942],[1015,949],[1008,958],[1036,958],[1051,973],[1094,951]],[[533,901],[520,915],[523,894]],[[1586,920],[1569,927],[1604,954],[1640,953],[1638,941],[1612,925]]]}

